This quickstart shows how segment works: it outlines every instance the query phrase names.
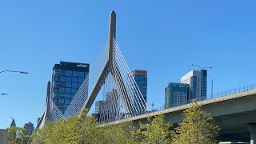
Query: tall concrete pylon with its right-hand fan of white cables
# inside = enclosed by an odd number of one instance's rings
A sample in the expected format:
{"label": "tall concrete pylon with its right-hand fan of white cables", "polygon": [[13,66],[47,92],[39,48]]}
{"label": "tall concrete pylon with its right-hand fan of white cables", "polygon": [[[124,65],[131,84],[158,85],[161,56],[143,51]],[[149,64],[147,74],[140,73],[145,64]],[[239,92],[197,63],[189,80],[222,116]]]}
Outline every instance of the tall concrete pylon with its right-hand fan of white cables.
{"label": "tall concrete pylon with its right-hand fan of white cables", "polygon": [[[109,90],[104,92],[103,97],[108,97],[107,95],[111,95],[112,91],[112,97],[114,98],[108,98],[112,100],[108,104],[105,103],[105,107],[102,106],[105,109],[100,110],[101,117],[105,118],[101,118],[102,122],[110,122],[108,118],[112,118],[111,121],[118,120],[117,118],[130,118],[145,113],[147,110],[146,101],[134,80],[134,75],[130,73],[130,69],[118,48],[115,38],[116,14],[113,10],[110,13],[106,61],[98,74],[98,78],[96,78],[96,82],[94,82],[92,89],[89,91],[86,102],[82,106],[82,110],[90,110],[100,90],[105,90],[105,87],[109,87]],[[124,106],[124,110],[122,110],[122,106]],[[80,114],[82,114],[82,110]]]}

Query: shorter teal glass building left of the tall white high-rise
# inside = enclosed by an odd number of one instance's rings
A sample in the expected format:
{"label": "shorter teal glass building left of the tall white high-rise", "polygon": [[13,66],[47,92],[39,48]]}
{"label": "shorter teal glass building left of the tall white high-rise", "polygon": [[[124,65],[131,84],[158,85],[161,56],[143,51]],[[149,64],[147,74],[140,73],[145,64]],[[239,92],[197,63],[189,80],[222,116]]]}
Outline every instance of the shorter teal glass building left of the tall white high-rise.
{"label": "shorter teal glass building left of the tall white high-rise", "polygon": [[186,104],[188,92],[188,84],[170,82],[165,89],[165,108]]}

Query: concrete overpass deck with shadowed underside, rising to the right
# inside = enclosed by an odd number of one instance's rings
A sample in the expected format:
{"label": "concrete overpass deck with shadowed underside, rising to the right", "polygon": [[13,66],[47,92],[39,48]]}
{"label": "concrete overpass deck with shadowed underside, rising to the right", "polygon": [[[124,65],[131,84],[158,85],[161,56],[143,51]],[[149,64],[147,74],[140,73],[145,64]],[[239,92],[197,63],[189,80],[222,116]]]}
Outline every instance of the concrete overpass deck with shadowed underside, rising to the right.
{"label": "concrete overpass deck with shadowed underside, rising to the right", "polygon": [[[256,142],[256,90],[248,90],[224,97],[212,98],[199,102],[202,110],[211,114],[215,124],[221,128],[219,141],[226,142]],[[178,126],[182,122],[183,110],[190,105],[176,106],[170,109],[156,111],[149,114],[139,115],[130,118],[134,126],[138,127],[139,122],[147,122],[148,117],[164,114],[165,122]],[[124,122],[127,120],[120,120]],[[117,122],[113,122],[117,123]]]}

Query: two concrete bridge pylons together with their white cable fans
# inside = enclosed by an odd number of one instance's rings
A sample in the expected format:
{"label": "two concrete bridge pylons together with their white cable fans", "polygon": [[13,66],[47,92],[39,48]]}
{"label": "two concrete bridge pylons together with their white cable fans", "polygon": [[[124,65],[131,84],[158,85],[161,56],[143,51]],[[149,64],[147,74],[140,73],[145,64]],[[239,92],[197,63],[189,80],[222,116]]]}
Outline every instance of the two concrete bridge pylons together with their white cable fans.
{"label": "two concrete bridge pylons together with their white cable fans", "polygon": [[99,54],[96,62],[91,66],[77,94],[70,102],[64,114],[50,95],[50,82],[47,84],[46,109],[38,123],[38,128],[47,121],[56,122],[60,118],[68,118],[81,114],[82,110],[90,110],[95,99],[101,97],[98,113],[100,123],[113,122],[124,118],[132,118],[144,114],[147,110],[146,100],[143,98],[134,75],[122,55],[116,41],[116,14],[110,13],[109,37],[106,48]]}

